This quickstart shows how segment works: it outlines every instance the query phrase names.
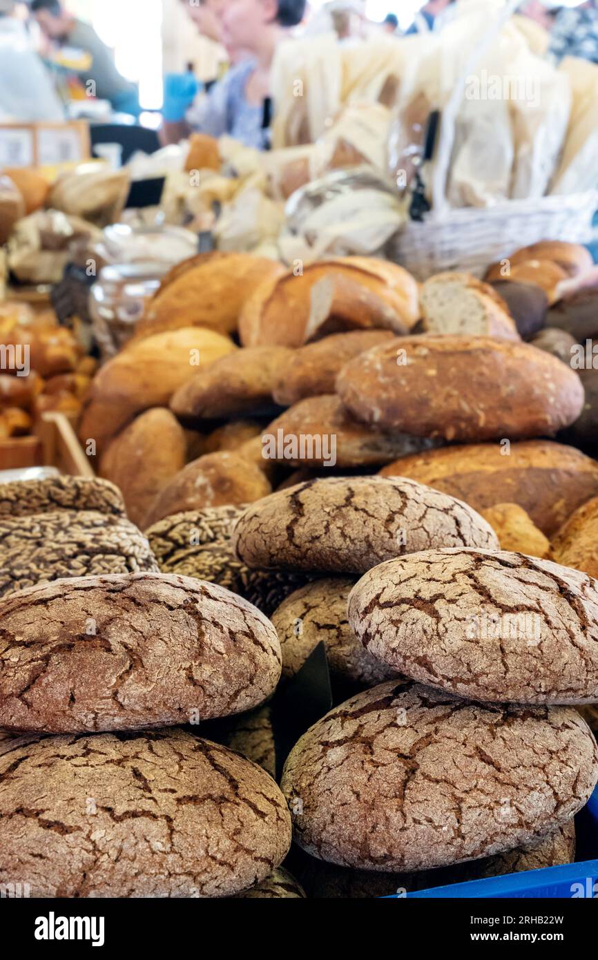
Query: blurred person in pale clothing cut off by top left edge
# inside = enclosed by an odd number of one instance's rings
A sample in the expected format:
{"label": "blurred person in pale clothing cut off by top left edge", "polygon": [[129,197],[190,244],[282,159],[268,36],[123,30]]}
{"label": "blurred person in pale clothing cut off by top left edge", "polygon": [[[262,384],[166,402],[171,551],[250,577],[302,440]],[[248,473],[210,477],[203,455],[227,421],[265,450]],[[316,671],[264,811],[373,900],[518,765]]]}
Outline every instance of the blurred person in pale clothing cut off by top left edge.
{"label": "blurred person in pale clothing cut off by top left edge", "polygon": [[64,108],[13,0],[0,0],[0,119],[60,121]]}

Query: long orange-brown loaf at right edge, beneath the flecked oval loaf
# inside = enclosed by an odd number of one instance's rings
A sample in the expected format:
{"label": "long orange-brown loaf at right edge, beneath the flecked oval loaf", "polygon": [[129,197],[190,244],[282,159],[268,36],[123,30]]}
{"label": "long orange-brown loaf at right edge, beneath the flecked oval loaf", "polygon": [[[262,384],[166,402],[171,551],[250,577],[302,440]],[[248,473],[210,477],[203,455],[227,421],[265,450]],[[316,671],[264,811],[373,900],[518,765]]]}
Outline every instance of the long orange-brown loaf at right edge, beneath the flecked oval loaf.
{"label": "long orange-brown loaf at right edge, beneath the flecked oval loaf", "polygon": [[596,461],[573,446],[544,440],[424,450],[380,473],[411,477],[465,500],[474,510],[516,503],[548,538],[598,494]]}

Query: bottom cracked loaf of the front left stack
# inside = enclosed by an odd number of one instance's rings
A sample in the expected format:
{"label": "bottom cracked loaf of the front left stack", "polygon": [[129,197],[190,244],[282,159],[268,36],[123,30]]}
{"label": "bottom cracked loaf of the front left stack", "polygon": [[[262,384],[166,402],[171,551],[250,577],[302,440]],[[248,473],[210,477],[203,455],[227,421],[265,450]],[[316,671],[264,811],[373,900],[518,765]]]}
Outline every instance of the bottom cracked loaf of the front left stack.
{"label": "bottom cracked loaf of the front left stack", "polygon": [[0,883],[32,897],[234,896],[290,842],[275,781],[184,731],[63,735],[0,756]]}

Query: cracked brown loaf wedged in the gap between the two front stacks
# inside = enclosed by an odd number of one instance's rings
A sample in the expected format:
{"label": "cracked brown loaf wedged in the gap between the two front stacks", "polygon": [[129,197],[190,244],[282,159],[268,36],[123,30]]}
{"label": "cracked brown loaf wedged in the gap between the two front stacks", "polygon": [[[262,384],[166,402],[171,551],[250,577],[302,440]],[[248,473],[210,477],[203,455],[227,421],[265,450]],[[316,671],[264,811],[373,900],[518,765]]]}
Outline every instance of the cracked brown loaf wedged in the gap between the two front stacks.
{"label": "cracked brown loaf wedged in the gap between the two front stacks", "polygon": [[354,584],[343,577],[316,580],[275,610],[271,619],[280,640],[283,677],[293,677],[322,641],[334,676],[363,686],[396,677],[392,667],[368,653],[348,625],[347,598]]}

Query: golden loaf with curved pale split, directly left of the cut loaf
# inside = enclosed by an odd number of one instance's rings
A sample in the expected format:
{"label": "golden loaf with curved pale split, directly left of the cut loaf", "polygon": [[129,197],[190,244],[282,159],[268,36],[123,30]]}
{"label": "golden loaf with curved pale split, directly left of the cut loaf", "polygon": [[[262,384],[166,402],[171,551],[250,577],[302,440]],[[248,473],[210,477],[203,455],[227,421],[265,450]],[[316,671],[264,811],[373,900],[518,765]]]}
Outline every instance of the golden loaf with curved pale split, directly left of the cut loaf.
{"label": "golden loaf with curved pale split, directly left of the cut loaf", "polygon": [[347,256],[265,281],[245,301],[239,333],[244,347],[302,347],[343,330],[407,333],[418,318],[418,285],[407,271],[385,260]]}

